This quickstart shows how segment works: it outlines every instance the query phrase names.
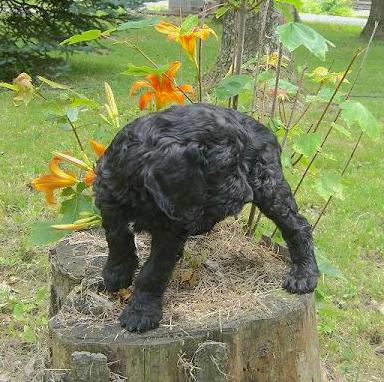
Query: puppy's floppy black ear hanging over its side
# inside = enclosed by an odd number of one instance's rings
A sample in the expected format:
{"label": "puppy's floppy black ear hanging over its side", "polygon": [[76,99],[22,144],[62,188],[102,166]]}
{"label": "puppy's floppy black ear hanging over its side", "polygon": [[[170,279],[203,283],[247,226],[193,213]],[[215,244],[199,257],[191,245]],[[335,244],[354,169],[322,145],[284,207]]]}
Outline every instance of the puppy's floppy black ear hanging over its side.
{"label": "puppy's floppy black ear hanging over its side", "polygon": [[205,158],[197,144],[179,144],[153,152],[144,185],[172,220],[197,220],[207,199]]}

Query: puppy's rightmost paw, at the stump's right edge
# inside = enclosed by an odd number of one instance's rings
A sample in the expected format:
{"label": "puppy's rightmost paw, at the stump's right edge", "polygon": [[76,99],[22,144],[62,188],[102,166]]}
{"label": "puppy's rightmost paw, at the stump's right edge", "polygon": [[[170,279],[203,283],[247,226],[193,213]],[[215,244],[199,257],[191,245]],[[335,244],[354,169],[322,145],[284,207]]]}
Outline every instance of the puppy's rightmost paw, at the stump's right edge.
{"label": "puppy's rightmost paw, at the stump's right edge", "polygon": [[305,294],[315,290],[320,273],[294,266],[285,276],[283,288],[290,293]]}

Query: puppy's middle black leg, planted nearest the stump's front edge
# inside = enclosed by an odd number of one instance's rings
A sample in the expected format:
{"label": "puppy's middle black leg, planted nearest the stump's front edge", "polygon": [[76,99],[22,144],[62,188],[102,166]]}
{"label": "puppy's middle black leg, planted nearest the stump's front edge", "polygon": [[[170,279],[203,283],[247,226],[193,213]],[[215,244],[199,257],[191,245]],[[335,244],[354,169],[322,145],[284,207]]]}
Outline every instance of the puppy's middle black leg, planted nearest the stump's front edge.
{"label": "puppy's middle black leg, planted nearest the stump's front edge", "polygon": [[145,332],[159,325],[163,295],[185,241],[180,235],[152,233],[151,255],[137,276],[132,300],[120,315],[121,326]]}

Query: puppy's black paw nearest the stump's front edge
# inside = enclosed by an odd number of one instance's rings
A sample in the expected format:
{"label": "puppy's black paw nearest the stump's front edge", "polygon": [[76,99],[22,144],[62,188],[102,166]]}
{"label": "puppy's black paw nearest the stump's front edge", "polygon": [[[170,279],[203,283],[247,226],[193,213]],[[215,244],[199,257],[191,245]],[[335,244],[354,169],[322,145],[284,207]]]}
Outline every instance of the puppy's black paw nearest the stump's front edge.
{"label": "puppy's black paw nearest the stump's front edge", "polygon": [[143,333],[157,328],[162,315],[159,300],[134,297],[124,308],[119,320],[121,326],[130,332]]}

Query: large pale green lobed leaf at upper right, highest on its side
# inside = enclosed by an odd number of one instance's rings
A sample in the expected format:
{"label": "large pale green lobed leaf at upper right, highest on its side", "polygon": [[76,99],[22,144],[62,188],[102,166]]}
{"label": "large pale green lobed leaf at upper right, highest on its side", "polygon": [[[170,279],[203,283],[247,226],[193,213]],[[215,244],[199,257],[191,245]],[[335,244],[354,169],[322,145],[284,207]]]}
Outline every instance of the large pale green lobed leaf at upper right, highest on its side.
{"label": "large pale green lobed leaf at upper right, highest on its side", "polygon": [[290,22],[276,28],[280,41],[290,51],[304,45],[310,52],[320,59],[325,59],[328,45],[334,47],[333,43],[317,33],[308,25]]}

